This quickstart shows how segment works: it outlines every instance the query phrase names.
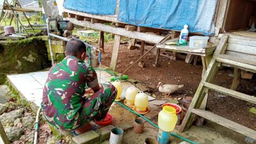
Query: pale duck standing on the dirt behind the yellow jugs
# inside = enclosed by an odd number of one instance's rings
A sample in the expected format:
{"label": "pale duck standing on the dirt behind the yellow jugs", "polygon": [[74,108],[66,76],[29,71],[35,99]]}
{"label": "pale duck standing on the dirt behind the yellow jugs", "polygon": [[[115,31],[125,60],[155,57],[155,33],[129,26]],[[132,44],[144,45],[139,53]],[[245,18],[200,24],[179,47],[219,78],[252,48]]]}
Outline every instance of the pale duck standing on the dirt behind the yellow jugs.
{"label": "pale duck standing on the dirt behind the yellow jugs", "polygon": [[159,92],[161,93],[165,93],[165,95],[168,94],[168,96],[170,95],[170,93],[173,93],[177,90],[179,90],[179,88],[182,88],[184,85],[175,85],[175,84],[162,84],[161,82],[158,83],[157,88],[159,90]]}

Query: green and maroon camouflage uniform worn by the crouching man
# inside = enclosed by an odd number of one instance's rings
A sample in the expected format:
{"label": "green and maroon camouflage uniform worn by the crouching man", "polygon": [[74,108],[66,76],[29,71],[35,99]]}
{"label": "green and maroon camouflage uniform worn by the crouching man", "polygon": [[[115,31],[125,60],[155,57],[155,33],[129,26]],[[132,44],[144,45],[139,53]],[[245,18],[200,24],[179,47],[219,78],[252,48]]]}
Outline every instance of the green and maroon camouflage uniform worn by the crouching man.
{"label": "green and maroon camouflage uniform worn by the crouching man", "polygon": [[[74,56],[67,56],[51,68],[44,86],[42,109],[50,124],[67,131],[90,120],[102,120],[115,100],[116,88],[109,84],[83,98],[86,83],[97,82],[93,68]],[[97,82],[98,84],[98,82]]]}

